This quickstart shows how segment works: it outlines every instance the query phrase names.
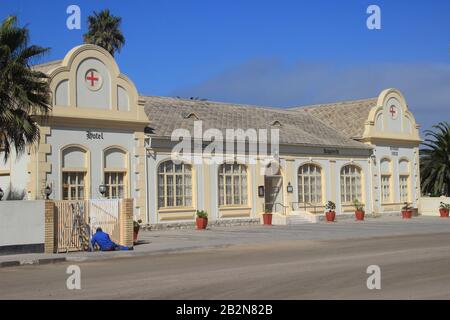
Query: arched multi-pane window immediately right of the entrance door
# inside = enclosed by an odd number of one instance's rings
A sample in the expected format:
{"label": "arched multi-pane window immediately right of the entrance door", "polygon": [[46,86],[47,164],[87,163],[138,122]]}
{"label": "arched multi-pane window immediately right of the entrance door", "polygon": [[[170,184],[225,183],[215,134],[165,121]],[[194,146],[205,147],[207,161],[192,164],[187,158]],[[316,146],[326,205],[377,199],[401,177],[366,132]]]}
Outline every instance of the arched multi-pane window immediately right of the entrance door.
{"label": "arched multi-pane window immediately right of the entrance door", "polygon": [[298,168],[298,202],[322,203],[322,173],[319,166],[305,164]]}

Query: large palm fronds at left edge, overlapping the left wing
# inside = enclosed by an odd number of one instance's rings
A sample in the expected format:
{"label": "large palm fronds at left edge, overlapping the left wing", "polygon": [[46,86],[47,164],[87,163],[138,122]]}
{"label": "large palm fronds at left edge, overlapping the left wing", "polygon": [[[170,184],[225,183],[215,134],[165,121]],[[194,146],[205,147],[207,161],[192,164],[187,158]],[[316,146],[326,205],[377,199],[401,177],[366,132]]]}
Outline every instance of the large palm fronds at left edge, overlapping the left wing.
{"label": "large palm fronds at left edge, overlapping the left wing", "polygon": [[36,62],[49,51],[29,45],[29,30],[17,26],[9,16],[0,25],[0,148],[4,160],[14,148],[19,155],[39,141],[35,116],[50,110],[48,77],[33,70]]}

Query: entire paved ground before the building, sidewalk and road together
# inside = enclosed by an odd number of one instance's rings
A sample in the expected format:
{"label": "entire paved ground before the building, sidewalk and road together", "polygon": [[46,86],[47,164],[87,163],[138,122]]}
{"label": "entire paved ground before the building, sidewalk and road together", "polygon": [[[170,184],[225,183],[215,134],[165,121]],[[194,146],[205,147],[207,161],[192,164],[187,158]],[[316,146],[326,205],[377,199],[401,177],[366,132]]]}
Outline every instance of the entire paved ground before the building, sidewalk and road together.
{"label": "entire paved ground before the building, sidewalk and road together", "polygon": [[[134,252],[1,268],[0,298],[448,299],[449,231],[438,217],[383,217],[143,232]],[[73,266],[80,288],[70,290]]]}

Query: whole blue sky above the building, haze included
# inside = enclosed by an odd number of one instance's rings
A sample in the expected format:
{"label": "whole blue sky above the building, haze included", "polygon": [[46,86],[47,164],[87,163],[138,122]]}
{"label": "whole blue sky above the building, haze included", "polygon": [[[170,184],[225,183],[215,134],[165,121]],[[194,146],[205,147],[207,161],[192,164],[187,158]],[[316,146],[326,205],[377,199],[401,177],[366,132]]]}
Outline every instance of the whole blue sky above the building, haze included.
{"label": "whole blue sky above the building, haze included", "polygon": [[[82,29],[66,28],[81,8]],[[366,9],[381,8],[381,30]],[[450,1],[0,0],[32,42],[62,58],[82,42],[86,17],[122,17],[122,72],[141,94],[295,106],[403,91],[426,129],[450,121]]]}

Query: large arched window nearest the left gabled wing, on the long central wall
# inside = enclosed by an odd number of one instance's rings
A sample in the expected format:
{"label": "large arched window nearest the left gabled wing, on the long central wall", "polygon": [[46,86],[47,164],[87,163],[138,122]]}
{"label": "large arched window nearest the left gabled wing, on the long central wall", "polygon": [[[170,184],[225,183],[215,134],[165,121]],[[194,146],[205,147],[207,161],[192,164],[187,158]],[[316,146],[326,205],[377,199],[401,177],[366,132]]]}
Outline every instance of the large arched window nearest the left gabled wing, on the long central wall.
{"label": "large arched window nearest the left gabled wing, on the long central wall", "polygon": [[158,208],[192,206],[191,165],[168,160],[158,167]]}

